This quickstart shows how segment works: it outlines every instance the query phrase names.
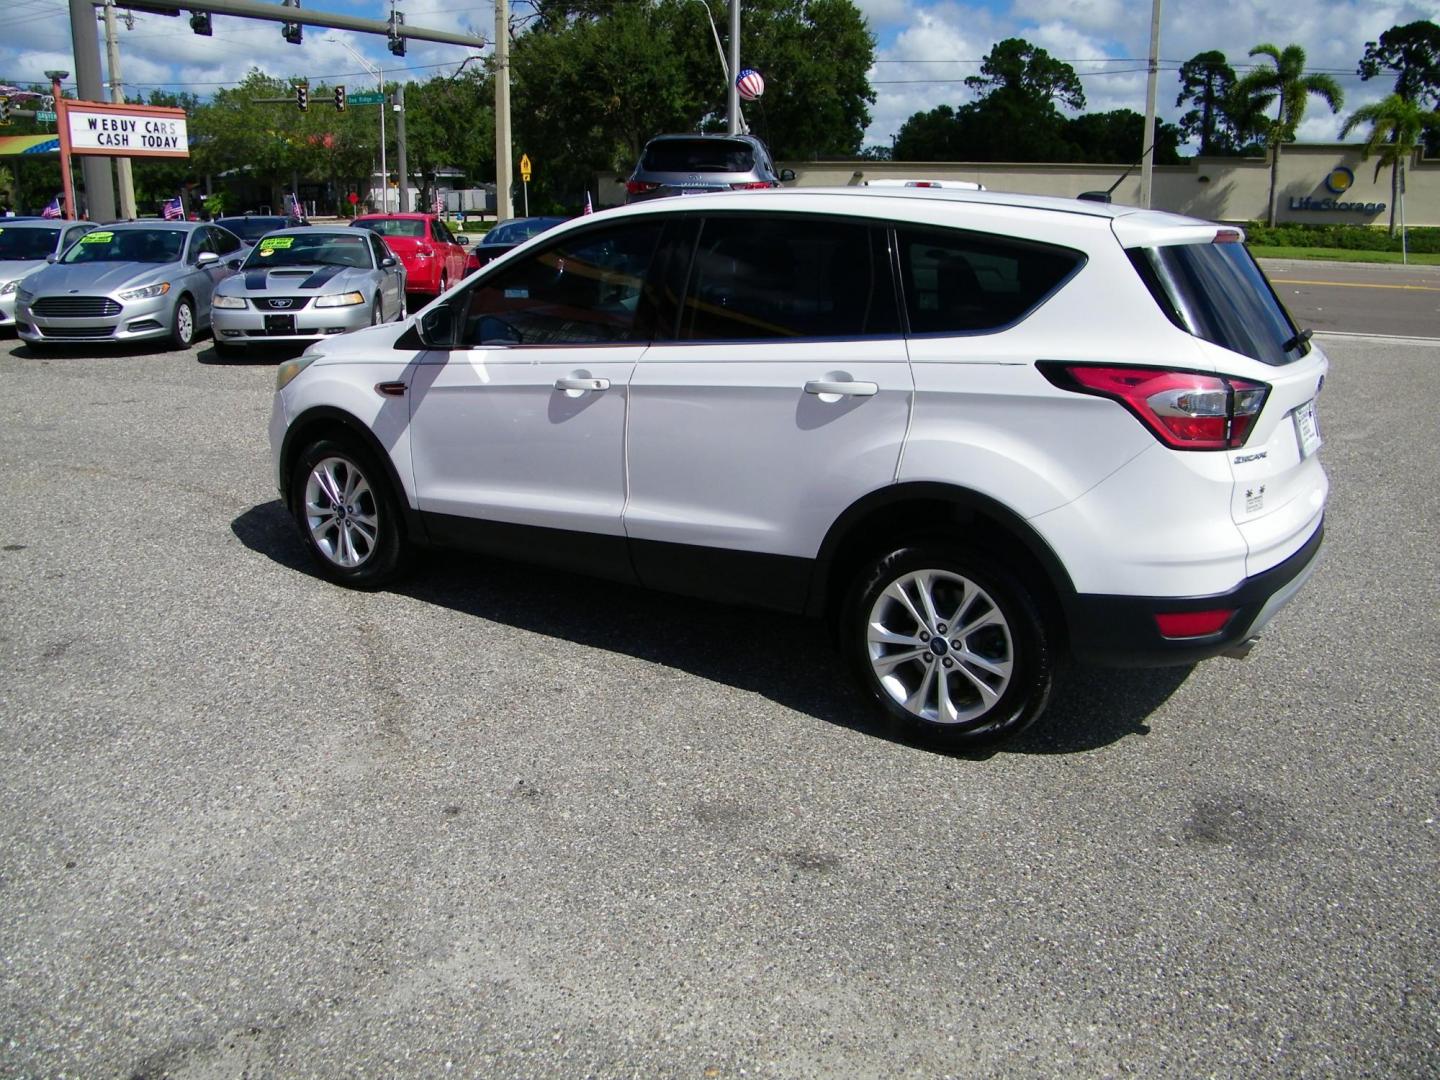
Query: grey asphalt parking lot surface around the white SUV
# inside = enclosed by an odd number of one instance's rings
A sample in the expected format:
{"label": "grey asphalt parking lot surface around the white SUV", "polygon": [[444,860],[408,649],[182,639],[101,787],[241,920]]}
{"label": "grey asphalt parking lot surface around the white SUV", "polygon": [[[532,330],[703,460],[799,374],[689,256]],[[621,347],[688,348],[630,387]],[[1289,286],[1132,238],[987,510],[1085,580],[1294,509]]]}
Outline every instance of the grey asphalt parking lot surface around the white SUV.
{"label": "grey asphalt parking lot surface around the white SUV", "polygon": [[1332,337],[1248,661],[955,757],[812,625],[274,501],[274,363],[0,341],[0,1074],[1440,1073],[1440,347]]}

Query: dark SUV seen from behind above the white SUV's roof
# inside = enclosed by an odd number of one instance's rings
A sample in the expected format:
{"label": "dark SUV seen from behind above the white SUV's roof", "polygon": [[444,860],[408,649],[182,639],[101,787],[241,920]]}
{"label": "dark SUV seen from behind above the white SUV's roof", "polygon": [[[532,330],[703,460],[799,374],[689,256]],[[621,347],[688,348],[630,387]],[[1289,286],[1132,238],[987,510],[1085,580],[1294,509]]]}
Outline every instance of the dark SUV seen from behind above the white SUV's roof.
{"label": "dark SUV seen from behind above the white SUV's roof", "polygon": [[779,187],[793,179],[791,168],[776,171],[770,151],[755,135],[655,135],[625,181],[625,202]]}

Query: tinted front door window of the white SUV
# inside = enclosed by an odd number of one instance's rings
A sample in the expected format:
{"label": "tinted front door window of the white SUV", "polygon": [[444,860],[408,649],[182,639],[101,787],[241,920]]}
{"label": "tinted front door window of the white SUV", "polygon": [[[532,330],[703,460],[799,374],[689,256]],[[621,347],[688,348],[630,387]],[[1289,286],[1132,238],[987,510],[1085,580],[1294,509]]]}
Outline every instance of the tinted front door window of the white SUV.
{"label": "tinted front door window of the white SUV", "polygon": [[648,341],[638,320],[660,225],[566,236],[462,292],[462,344]]}

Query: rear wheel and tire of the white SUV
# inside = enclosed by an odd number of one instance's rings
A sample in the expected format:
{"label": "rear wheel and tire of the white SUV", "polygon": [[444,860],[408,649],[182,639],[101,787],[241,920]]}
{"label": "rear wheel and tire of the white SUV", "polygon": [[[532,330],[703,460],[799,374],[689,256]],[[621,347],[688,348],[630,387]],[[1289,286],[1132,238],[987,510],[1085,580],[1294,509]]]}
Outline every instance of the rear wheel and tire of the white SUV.
{"label": "rear wheel and tire of the white SUV", "polygon": [[932,744],[1009,737],[1050,698],[1040,609],[1014,573],[963,547],[924,541],[871,562],[841,611],[840,642],[865,696]]}

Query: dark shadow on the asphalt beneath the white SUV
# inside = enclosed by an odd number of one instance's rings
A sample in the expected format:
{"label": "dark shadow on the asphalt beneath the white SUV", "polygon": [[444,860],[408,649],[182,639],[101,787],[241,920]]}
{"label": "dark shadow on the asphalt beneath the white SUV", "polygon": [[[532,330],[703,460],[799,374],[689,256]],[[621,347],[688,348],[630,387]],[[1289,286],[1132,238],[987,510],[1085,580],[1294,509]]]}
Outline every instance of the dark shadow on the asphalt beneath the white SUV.
{"label": "dark shadow on the asphalt beneath the white SUV", "polygon": [[[320,577],[278,500],[246,510],[230,528],[252,552],[288,570]],[[387,592],[624,652],[760,694],[827,723],[906,742],[871,716],[825,626],[812,619],[451,553],[426,553],[423,566]],[[984,760],[996,753],[1079,753],[1148,734],[1148,717],[1191,670],[1061,671],[1050,707],[1032,729],[998,747],[955,756]]]}

